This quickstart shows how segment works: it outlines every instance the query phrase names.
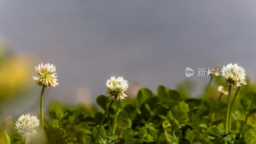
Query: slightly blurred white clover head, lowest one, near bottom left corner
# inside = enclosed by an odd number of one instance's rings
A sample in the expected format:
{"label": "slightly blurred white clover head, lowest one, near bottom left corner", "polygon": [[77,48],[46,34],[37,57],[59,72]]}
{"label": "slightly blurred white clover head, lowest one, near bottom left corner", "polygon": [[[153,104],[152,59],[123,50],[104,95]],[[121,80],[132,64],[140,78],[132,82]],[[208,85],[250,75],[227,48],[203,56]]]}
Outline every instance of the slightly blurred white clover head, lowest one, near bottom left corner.
{"label": "slightly blurred white clover head, lowest one, near bottom left corner", "polygon": [[39,119],[36,116],[22,115],[16,122],[15,129],[18,129],[18,133],[23,136],[35,135],[37,132],[34,128],[39,126]]}

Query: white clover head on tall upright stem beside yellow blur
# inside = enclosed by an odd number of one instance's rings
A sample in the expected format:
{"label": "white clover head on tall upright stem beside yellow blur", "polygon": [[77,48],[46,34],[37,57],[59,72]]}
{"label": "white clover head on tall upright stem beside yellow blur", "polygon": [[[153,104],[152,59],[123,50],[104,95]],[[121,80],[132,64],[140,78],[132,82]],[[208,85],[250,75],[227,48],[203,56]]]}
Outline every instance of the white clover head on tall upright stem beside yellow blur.
{"label": "white clover head on tall upright stem beside yellow blur", "polygon": [[39,86],[46,86],[46,87],[56,87],[59,83],[57,83],[57,78],[58,76],[55,76],[57,73],[55,73],[56,68],[53,66],[53,64],[45,64],[43,63],[38,65],[36,67],[36,73],[39,75],[38,77],[33,76],[34,81],[36,84]]}

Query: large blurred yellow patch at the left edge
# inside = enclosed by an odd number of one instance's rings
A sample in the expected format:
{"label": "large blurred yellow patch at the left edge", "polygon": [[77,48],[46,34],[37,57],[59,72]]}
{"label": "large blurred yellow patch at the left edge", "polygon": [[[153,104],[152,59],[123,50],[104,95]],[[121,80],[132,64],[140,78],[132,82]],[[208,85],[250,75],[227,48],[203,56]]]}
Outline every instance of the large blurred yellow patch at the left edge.
{"label": "large blurred yellow patch at the left edge", "polygon": [[8,52],[0,41],[0,101],[29,86],[31,68],[29,56]]}

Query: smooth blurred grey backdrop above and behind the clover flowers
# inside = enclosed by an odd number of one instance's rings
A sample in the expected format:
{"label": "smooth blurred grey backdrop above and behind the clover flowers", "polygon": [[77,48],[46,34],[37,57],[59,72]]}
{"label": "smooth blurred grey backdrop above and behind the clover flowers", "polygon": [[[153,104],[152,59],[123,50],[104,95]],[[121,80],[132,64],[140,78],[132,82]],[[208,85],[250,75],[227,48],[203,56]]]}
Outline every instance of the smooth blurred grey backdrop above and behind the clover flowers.
{"label": "smooth blurred grey backdrop above and behind the clover flowers", "polygon": [[111,76],[128,80],[131,95],[188,79],[199,95],[209,77],[186,78],[187,66],[238,63],[255,78],[255,14],[252,0],[1,0],[0,35],[13,53],[32,55],[32,76],[38,63],[56,65],[60,84],[46,103],[94,103]]}

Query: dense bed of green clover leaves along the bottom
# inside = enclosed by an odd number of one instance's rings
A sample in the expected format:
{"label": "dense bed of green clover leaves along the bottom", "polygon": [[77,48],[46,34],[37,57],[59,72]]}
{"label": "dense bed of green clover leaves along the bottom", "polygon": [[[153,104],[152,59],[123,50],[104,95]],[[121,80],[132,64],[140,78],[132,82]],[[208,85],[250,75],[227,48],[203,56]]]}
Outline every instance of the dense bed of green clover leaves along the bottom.
{"label": "dense bed of green clover leaves along the bottom", "polygon": [[[256,143],[254,87],[249,83],[241,86],[231,113],[231,130],[226,134],[227,96],[219,100],[220,94],[217,92],[217,86],[225,84],[219,77],[214,77],[214,80],[215,83],[209,88],[203,105],[201,98],[189,96],[188,90],[192,87],[190,84],[184,84],[178,90],[169,90],[160,85],[156,94],[148,88],[142,88],[135,99],[127,97],[122,101],[114,101],[97,143]],[[236,89],[231,90],[231,98]],[[39,134],[34,136],[30,143],[92,143],[103,113],[111,100],[100,95],[96,99],[100,108],[84,105],[70,107],[52,103],[49,108],[51,119],[44,121],[45,135],[42,136],[39,130]],[[15,141],[23,140],[19,137],[10,139],[10,143]]]}

